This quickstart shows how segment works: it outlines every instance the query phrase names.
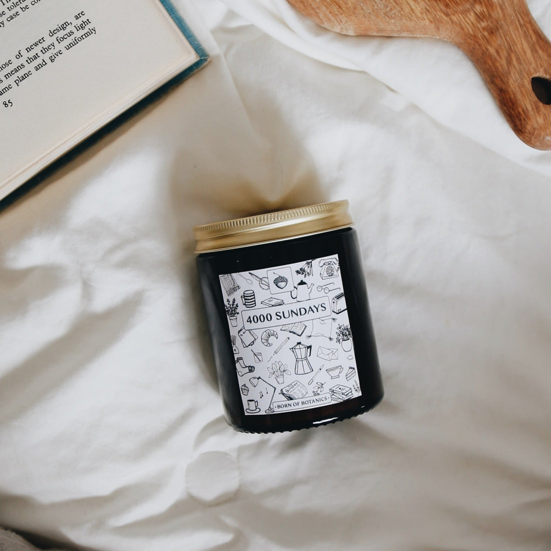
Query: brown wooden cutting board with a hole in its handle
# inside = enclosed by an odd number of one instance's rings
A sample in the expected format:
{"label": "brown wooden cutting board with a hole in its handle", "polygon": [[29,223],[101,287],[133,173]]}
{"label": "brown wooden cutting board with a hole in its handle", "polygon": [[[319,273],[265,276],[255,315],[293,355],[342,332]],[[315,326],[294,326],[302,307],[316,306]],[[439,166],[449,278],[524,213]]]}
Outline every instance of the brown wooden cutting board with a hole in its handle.
{"label": "brown wooden cutting board with a hole in its handle", "polygon": [[517,136],[533,148],[551,149],[551,43],[525,0],[288,2],[338,33],[452,42],[476,65]]}

